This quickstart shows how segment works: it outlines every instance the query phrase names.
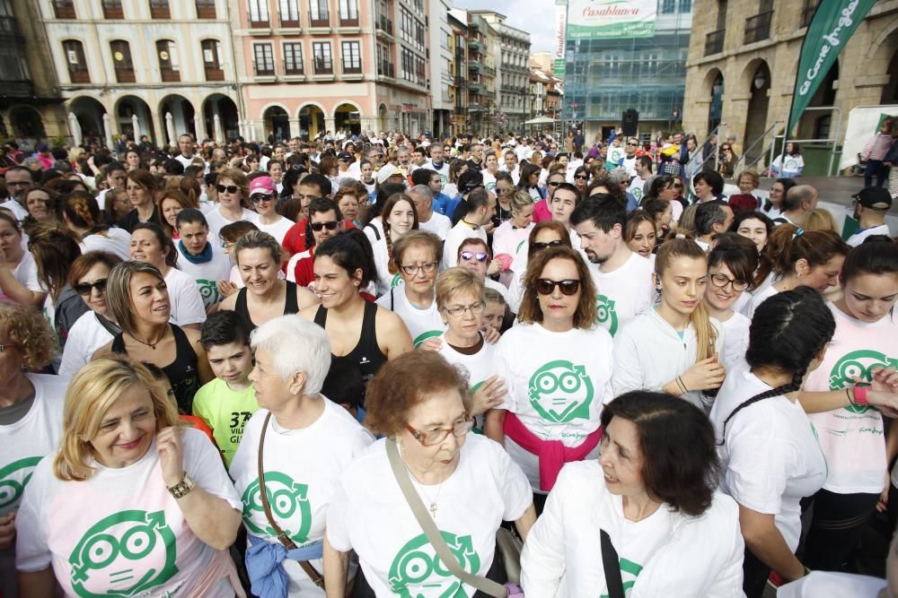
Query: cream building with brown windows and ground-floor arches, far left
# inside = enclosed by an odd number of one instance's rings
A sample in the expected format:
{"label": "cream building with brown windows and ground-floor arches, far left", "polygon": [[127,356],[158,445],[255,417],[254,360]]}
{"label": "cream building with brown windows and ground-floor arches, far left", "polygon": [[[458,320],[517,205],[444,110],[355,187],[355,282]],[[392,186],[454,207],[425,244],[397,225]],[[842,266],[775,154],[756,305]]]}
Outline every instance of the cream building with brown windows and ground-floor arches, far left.
{"label": "cream building with brown windows and ground-floor arches, far left", "polygon": [[84,138],[239,132],[229,3],[40,2],[53,73]]}

